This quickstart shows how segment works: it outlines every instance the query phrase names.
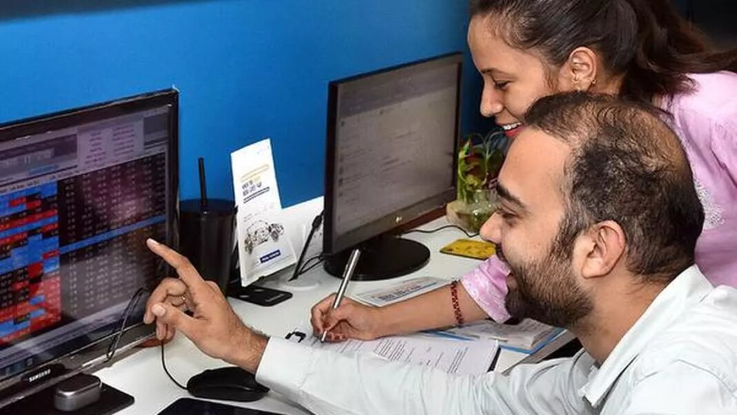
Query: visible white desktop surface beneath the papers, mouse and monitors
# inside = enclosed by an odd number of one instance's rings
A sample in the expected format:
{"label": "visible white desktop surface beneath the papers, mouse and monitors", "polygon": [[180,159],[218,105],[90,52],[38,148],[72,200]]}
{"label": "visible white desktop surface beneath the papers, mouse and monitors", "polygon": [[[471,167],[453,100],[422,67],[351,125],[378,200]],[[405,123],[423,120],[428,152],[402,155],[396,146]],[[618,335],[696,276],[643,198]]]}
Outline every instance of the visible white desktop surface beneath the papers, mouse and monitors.
{"label": "visible white desktop surface beneath the papers, mouse and monitors", "polygon": [[[436,229],[447,224],[444,218],[434,220],[422,226],[421,229]],[[402,277],[409,279],[416,276],[437,276],[441,278],[454,279],[463,273],[470,271],[479,264],[478,260],[453,257],[440,254],[439,249],[461,237],[465,237],[456,229],[444,229],[434,234],[408,234],[408,238],[418,240],[430,248],[430,262],[416,273]],[[279,280],[284,279],[287,273],[278,274],[259,282],[259,285],[279,288]],[[314,290],[293,291],[293,298],[273,307],[260,307],[248,304],[238,299],[230,299],[231,305],[242,320],[267,335],[283,337],[298,324],[309,320],[310,308],[320,299],[338,290],[340,279],[329,276],[323,268],[314,268],[309,273],[300,277],[320,282]],[[381,287],[386,284],[397,282],[399,279],[388,282],[352,282],[346,294],[360,292],[369,288]],[[450,307],[450,299],[448,299]],[[517,352],[503,350],[497,361],[496,370],[505,371],[514,364],[525,359],[525,362],[542,360],[559,346],[567,343],[570,335],[559,338],[557,346],[548,347],[536,355],[525,355]],[[192,377],[204,369],[225,366],[220,360],[214,360],[203,355],[191,342],[181,335],[177,335],[172,342],[166,346],[167,368],[179,383],[186,384]],[[161,369],[161,355],[158,347],[144,349],[134,352],[121,360],[113,361],[112,366],[97,371],[97,376],[109,385],[119,388],[136,398],[136,402],[125,410],[121,415],[150,415],[161,411],[171,402],[180,397],[189,396],[186,391],[175,386]],[[263,411],[273,411],[281,414],[308,414],[298,405],[285,400],[281,395],[270,392],[264,399],[257,402],[239,403],[228,402],[246,408],[256,408]]]}

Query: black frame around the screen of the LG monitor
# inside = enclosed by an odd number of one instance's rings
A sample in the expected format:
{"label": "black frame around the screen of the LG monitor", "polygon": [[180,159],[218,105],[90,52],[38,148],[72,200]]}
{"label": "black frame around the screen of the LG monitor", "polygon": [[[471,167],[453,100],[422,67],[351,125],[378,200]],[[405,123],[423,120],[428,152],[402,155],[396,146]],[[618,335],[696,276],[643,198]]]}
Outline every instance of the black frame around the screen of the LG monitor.
{"label": "black frame around the screen of the LG monitor", "polygon": [[[464,55],[462,52],[451,52],[444,55],[435,57],[429,57],[422,60],[415,60],[410,63],[403,63],[397,66],[391,66],[385,69],[379,69],[377,71],[366,72],[363,74],[357,74],[352,77],[346,77],[339,80],[333,80],[328,85],[328,108],[327,108],[327,133],[326,133],[326,153],[325,153],[325,196],[324,196],[324,232],[323,232],[323,254],[333,255],[338,254],[354,245],[363,243],[372,237],[377,237],[380,234],[391,233],[392,230],[397,229],[405,223],[415,220],[427,212],[431,212],[434,209],[439,209],[455,199],[456,190],[455,182],[458,174],[458,143],[460,140],[461,133],[461,92],[462,92],[462,80],[463,80],[463,61]],[[433,66],[447,66],[455,65],[457,78],[456,78],[456,97],[455,97],[455,136],[453,137],[453,174],[448,184],[447,189],[440,192],[438,195],[434,195],[431,198],[421,200],[405,208],[398,209],[388,215],[384,215],[377,220],[367,223],[366,225],[360,226],[352,231],[352,235],[349,238],[344,238],[339,243],[336,243],[334,237],[334,221],[335,221],[335,144],[337,135],[337,123],[338,123],[338,96],[340,87],[348,83],[352,83],[357,80],[364,80],[368,77],[374,77],[376,75],[385,75],[390,72],[394,72],[400,69],[407,69],[411,67],[422,68],[427,66],[428,68]],[[450,150],[450,149],[449,149]]]}

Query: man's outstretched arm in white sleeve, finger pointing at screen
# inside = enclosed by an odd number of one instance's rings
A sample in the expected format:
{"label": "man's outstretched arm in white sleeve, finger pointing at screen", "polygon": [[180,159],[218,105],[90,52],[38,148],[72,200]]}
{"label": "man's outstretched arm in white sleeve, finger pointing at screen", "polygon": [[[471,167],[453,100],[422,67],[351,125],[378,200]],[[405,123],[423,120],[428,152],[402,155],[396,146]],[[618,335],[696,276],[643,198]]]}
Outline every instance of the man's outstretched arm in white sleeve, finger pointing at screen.
{"label": "man's outstretched arm in white sleeve, finger pointing at screen", "polygon": [[569,391],[562,386],[586,380],[587,372],[574,370],[576,360],[521,367],[510,377],[455,376],[269,339],[243,324],[217,285],[204,281],[186,258],[153,240],[148,245],[179,275],[161,282],[147,303],[144,321],[156,322],[157,337],[179,330],[207,355],[255,373],[315,414],[578,413],[560,405],[579,401],[578,388],[570,389],[570,399],[561,396]]}

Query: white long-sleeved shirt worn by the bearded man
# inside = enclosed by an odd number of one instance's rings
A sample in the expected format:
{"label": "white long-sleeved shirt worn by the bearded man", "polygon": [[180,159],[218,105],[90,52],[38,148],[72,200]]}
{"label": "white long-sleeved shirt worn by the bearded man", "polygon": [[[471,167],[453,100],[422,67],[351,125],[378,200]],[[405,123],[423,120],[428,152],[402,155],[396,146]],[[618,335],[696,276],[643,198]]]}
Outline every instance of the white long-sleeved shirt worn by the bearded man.
{"label": "white long-sleeved shirt worn by the bearded man", "polygon": [[688,268],[601,366],[457,376],[271,338],[256,380],[315,414],[737,414],[737,290]]}

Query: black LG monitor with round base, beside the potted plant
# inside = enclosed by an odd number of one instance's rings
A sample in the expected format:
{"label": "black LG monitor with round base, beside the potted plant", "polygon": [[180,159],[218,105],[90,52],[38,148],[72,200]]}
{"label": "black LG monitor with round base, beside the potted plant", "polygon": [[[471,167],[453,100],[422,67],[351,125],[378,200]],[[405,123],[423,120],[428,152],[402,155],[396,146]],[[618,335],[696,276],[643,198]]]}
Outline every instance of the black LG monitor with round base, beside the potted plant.
{"label": "black LG monitor with round base, beside the potted plant", "polygon": [[422,268],[430,251],[395,237],[405,223],[455,198],[460,53],[329,84],[325,269],[340,276],[360,246],[354,279]]}

